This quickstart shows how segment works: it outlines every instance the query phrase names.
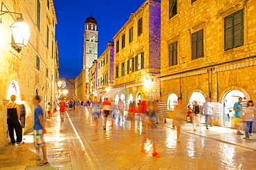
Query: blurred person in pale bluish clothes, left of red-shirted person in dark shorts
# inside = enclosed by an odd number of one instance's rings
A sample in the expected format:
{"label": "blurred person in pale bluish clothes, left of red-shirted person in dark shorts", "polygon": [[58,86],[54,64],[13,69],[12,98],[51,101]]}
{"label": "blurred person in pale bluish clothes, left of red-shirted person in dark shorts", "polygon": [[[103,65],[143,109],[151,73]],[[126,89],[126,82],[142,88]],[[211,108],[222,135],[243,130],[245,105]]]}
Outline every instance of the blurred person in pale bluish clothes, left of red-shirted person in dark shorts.
{"label": "blurred person in pale bluish clothes, left of red-shirted person in dark shorts", "polygon": [[91,118],[93,119],[95,130],[98,129],[98,123],[100,118],[100,109],[102,109],[101,103],[98,101],[98,97],[94,96],[90,106]]}

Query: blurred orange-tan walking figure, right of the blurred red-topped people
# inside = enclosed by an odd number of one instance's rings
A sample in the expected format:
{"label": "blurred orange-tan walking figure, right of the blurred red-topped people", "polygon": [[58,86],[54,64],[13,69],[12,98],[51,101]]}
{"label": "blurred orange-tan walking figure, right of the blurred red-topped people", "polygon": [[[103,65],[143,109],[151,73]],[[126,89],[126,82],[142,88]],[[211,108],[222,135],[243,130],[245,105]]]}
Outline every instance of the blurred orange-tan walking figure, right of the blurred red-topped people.
{"label": "blurred orange-tan walking figure, right of the blurred red-topped people", "polygon": [[185,123],[187,107],[182,105],[182,98],[178,98],[178,105],[174,107],[174,122],[173,125],[177,129],[177,142],[180,142],[181,125]]}

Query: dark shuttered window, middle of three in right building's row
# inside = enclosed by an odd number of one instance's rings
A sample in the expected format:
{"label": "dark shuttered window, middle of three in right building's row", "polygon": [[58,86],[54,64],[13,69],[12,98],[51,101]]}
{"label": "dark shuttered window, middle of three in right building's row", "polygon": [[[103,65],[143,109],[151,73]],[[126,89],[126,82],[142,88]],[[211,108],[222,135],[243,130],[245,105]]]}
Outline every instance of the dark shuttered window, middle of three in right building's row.
{"label": "dark shuttered window, middle of three in right building's row", "polygon": [[192,34],[192,60],[203,57],[203,30]]}

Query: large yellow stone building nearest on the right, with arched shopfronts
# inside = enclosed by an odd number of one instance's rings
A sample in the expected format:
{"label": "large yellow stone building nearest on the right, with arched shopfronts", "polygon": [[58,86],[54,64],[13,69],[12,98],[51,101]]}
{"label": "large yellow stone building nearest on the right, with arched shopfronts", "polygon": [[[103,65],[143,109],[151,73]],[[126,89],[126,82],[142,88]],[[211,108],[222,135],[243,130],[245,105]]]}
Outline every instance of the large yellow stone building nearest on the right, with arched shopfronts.
{"label": "large yellow stone building nearest on the right, with arched shopfronts", "polygon": [[217,105],[216,125],[234,127],[238,97],[255,100],[256,10],[253,0],[161,1],[161,94],[172,110]]}

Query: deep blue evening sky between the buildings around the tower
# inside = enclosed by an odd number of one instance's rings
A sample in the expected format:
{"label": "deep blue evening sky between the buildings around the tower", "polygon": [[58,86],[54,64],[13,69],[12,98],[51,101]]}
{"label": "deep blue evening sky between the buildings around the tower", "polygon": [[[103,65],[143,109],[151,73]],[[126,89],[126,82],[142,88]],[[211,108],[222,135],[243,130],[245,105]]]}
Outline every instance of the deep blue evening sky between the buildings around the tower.
{"label": "deep blue evening sky between the buildings around the tower", "polygon": [[98,56],[145,0],[53,0],[57,15],[56,40],[59,48],[60,78],[75,78],[82,70],[84,21],[98,22]]}

